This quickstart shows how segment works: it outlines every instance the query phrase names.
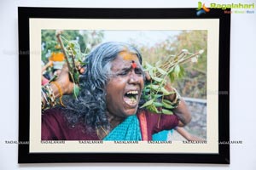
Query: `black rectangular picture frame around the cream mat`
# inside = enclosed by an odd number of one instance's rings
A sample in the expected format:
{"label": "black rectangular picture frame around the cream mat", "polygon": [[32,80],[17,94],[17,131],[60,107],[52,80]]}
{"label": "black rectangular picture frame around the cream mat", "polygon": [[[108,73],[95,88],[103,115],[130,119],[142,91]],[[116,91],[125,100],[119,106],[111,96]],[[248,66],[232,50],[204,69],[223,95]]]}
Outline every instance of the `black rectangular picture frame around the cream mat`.
{"label": "black rectangular picture frame around the cream mat", "polygon": [[[227,9],[229,10],[229,9]],[[218,141],[230,140],[230,14],[211,9],[196,15],[196,8],[27,8],[19,7],[19,163],[44,162],[151,162],[230,163],[230,144],[218,144],[218,153],[31,153],[30,133],[30,23],[46,19],[218,19]],[[28,141],[28,142],[27,142]]]}

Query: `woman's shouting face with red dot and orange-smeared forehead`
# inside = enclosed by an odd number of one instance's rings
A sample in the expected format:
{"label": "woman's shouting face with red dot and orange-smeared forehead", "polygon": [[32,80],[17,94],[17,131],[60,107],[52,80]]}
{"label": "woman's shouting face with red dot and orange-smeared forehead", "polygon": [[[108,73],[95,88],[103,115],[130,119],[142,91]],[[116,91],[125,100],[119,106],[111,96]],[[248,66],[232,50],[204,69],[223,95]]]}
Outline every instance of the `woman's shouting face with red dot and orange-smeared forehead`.
{"label": "woman's shouting face with red dot and orange-smeared forehead", "polygon": [[[143,91],[143,68],[136,54],[122,52],[112,62],[112,75],[107,84],[107,114],[112,124],[137,113],[138,102]],[[137,93],[133,102],[125,94]],[[114,123],[116,122],[116,123]]]}

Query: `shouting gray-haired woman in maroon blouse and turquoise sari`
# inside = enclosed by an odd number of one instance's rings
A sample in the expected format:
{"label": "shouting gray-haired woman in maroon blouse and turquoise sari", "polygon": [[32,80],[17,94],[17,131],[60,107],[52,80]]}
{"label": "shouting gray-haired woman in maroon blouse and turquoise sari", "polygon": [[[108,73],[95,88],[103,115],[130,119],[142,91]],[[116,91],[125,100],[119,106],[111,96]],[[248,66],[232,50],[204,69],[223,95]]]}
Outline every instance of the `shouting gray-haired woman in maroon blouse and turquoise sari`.
{"label": "shouting gray-haired woman in maroon blouse and turquoise sari", "polygon": [[[189,110],[182,99],[177,100],[177,94],[166,97],[178,102],[173,115],[139,108],[146,76],[137,48],[124,42],[106,42],[84,62],[78,99],[67,95],[65,108],[44,111],[43,140],[151,140],[154,133],[190,122]],[[64,67],[55,82],[42,88],[42,105],[53,106],[55,99],[73,94],[67,72]],[[166,89],[173,90],[170,86]]]}

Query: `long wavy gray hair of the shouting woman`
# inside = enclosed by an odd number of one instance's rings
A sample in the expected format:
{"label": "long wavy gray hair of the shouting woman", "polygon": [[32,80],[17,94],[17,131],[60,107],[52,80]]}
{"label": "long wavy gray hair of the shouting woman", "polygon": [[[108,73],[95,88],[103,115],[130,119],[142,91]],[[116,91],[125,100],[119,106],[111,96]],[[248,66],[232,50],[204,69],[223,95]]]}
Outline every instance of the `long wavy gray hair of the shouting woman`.
{"label": "long wavy gray hair of the shouting woman", "polygon": [[68,96],[64,110],[68,122],[75,124],[82,118],[88,127],[103,126],[109,128],[106,116],[106,85],[111,73],[112,61],[120,52],[137,54],[142,64],[142,56],[137,48],[125,42],[105,42],[97,46],[85,59],[85,72],[79,78],[80,92],[78,100]]}

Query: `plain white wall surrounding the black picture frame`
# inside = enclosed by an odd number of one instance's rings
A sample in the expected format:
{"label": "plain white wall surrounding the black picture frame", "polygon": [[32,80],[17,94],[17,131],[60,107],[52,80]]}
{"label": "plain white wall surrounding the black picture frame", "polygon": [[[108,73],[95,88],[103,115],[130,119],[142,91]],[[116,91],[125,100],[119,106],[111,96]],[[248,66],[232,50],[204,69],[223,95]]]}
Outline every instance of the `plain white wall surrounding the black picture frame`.
{"label": "plain white wall surrounding the black picture frame", "polygon": [[[219,1],[201,1],[217,3]],[[222,3],[256,3],[251,1],[221,1]],[[17,144],[4,144],[18,139],[18,6],[38,7],[123,7],[123,8],[196,8],[197,1],[179,0],[68,0],[0,2],[0,169],[256,169],[255,76],[256,14],[232,14],[230,51],[230,139],[243,144],[231,144],[231,163],[227,165],[191,164],[17,164]],[[255,10],[254,10],[255,11]],[[255,11],[256,12],[256,11]],[[22,77],[22,75],[21,75]]]}

